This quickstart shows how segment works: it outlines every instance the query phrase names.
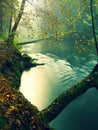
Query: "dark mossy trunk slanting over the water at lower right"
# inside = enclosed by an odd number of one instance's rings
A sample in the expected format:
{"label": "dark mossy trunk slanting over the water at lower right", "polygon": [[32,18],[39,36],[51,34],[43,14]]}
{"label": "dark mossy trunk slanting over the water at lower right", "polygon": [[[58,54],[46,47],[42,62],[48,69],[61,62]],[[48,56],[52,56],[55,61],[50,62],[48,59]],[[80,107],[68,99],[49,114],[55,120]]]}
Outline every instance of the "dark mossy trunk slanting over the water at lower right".
{"label": "dark mossy trunk slanting over the water at lower right", "polygon": [[50,106],[42,110],[41,113],[43,118],[47,120],[48,123],[51,122],[70,102],[72,102],[91,87],[98,88],[98,65],[95,66],[94,71],[83,81],[68,89],[57,99],[55,99]]}

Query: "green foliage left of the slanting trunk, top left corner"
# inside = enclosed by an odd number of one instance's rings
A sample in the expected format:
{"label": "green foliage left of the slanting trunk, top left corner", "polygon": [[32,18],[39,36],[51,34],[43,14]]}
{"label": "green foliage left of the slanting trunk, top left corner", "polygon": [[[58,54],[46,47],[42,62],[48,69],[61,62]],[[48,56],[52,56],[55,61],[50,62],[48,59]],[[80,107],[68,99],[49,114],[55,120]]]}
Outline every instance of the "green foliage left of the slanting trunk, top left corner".
{"label": "green foliage left of the slanting trunk, top left corner", "polygon": [[15,19],[18,7],[18,0],[0,2],[0,37],[3,37],[4,40],[8,38],[11,31],[12,19]]}

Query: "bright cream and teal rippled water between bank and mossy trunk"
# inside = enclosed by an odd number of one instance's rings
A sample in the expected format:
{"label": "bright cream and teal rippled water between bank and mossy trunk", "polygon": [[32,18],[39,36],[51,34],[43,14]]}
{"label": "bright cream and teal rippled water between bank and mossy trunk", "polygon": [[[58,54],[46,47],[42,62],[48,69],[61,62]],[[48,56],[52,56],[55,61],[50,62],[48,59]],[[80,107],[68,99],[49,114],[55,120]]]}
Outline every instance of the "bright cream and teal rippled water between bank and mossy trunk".
{"label": "bright cream and teal rippled water between bank and mossy trunk", "polygon": [[[96,61],[84,62],[86,59],[74,56],[70,62],[52,54],[30,54],[45,65],[23,72],[20,91],[40,110],[49,105],[57,96],[75,85],[90,73]],[[75,64],[74,64],[74,62]],[[82,64],[81,64],[82,63]]]}

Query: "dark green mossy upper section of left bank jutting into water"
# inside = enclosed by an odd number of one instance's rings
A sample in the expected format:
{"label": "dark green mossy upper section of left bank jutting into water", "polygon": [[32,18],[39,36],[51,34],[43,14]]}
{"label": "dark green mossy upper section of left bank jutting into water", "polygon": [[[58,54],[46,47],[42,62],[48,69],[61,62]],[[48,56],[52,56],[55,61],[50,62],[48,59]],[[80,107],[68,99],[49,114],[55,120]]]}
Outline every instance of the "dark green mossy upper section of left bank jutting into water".
{"label": "dark green mossy upper section of left bank jutting into water", "polygon": [[[17,49],[14,50],[14,48],[12,48],[11,50],[11,48],[5,46],[4,53],[5,51],[7,54],[4,55],[1,53],[1,60],[3,62],[0,66],[0,72],[2,72],[2,74],[11,82],[11,86],[18,89],[22,72],[24,70],[29,70],[31,67],[36,66],[36,64],[33,64],[33,60],[28,55],[24,54],[22,56]],[[8,54],[10,54],[10,59]],[[2,58],[5,59],[5,61]]]}

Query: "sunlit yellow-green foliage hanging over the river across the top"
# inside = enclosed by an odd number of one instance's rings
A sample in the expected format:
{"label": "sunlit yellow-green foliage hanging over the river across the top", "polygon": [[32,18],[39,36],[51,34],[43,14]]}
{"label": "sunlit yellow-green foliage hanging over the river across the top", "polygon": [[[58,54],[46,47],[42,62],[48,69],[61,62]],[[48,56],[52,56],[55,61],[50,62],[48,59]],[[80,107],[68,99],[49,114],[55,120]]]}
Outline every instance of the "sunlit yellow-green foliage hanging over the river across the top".
{"label": "sunlit yellow-green foliage hanging over the river across the top", "polygon": [[[17,1],[10,3],[11,0],[3,2],[4,18],[5,15],[12,15],[14,21],[19,14],[20,5]],[[74,44],[79,52],[85,52],[86,47],[94,44],[90,1],[88,0],[43,0],[43,4],[34,5],[33,0],[28,0],[30,9],[23,13],[20,22],[21,29],[26,27],[25,35],[32,39],[49,39],[50,43],[62,43],[68,37],[74,39]],[[93,1],[95,32],[98,38],[98,1]],[[27,8],[27,7],[26,7]],[[8,10],[6,13],[6,9]],[[6,20],[5,20],[6,21]],[[21,30],[19,30],[20,32]],[[19,33],[18,32],[18,33]],[[23,31],[20,33],[23,34]],[[15,32],[15,35],[16,32]],[[18,34],[19,35],[19,34]],[[24,37],[23,37],[24,39]],[[15,43],[18,37],[15,38]],[[84,45],[86,47],[84,47]],[[17,47],[17,46],[16,46]],[[21,50],[21,47],[18,47]]]}

